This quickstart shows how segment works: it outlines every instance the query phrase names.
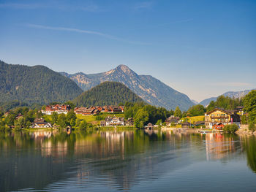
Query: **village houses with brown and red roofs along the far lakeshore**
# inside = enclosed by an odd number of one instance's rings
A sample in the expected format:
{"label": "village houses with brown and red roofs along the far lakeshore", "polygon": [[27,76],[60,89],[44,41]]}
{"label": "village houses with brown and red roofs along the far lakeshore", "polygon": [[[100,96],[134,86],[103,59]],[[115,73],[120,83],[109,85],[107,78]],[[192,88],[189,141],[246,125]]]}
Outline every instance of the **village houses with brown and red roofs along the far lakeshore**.
{"label": "village houses with brown and red roofs along the far lakeshore", "polygon": [[[174,115],[166,118],[161,124],[154,125],[153,123],[147,123],[143,128],[145,129],[171,129],[178,128],[178,130],[186,131],[191,128],[200,128],[202,130],[222,131],[224,126],[229,124],[236,124],[239,128],[241,127],[241,115],[244,115],[244,107],[236,107],[235,110],[223,110],[219,107],[215,107],[214,110],[206,112],[204,116],[200,116],[200,120],[192,121],[192,118],[179,118]],[[72,110],[68,104],[54,104],[44,107],[41,112],[45,117],[53,115],[54,113],[60,115],[67,115]],[[124,118],[125,107],[121,106],[92,106],[92,107],[75,107],[73,112],[78,118],[94,118],[92,121],[97,127],[135,127],[133,118]],[[6,117],[9,112],[6,112]],[[103,116],[99,116],[103,114]],[[23,117],[22,114],[18,114],[15,118],[18,120]],[[101,117],[99,119],[99,117]],[[97,119],[98,118],[98,119]],[[103,118],[103,119],[102,119]],[[10,126],[15,128],[15,126]],[[35,118],[34,122],[31,123],[30,128],[58,128],[58,126],[51,124],[44,118]]]}

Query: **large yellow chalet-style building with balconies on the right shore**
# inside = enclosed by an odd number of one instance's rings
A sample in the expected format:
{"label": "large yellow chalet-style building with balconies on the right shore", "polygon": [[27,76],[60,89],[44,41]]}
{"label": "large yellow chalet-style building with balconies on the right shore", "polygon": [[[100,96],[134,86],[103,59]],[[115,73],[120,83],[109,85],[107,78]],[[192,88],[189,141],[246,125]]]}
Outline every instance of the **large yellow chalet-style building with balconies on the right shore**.
{"label": "large yellow chalet-style building with balconies on the right shore", "polygon": [[216,107],[205,114],[206,128],[223,128],[227,124],[236,123],[240,126],[240,116],[236,110],[227,111]]}

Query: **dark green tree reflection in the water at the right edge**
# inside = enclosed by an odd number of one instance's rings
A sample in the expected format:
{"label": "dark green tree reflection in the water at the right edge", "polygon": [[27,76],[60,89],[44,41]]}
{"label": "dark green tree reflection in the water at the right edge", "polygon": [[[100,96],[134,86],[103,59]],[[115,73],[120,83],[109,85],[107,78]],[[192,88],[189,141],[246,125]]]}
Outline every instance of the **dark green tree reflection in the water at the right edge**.
{"label": "dark green tree reflection in the water at the right edge", "polygon": [[256,138],[252,136],[241,137],[241,139],[247,155],[247,165],[256,173]]}

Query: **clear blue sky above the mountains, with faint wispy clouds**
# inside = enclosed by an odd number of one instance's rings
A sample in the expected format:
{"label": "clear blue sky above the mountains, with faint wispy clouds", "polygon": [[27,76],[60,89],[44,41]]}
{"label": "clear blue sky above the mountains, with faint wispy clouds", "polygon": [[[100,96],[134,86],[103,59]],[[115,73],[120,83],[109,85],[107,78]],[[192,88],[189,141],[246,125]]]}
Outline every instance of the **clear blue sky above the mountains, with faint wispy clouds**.
{"label": "clear blue sky above the mountains, with faint wispy clouds", "polygon": [[256,88],[256,1],[4,1],[0,59],[57,72],[125,64],[190,99]]}

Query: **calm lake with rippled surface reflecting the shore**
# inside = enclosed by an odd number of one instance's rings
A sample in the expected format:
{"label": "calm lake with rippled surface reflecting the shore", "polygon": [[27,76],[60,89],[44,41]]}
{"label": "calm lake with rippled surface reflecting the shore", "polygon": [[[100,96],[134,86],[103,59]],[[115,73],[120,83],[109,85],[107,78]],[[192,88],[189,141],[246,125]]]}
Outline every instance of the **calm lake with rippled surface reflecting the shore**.
{"label": "calm lake with rippled surface reflecting the shore", "polygon": [[256,137],[173,131],[0,134],[0,191],[255,191]]}

